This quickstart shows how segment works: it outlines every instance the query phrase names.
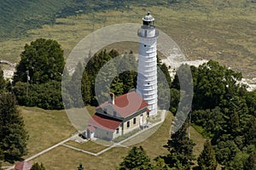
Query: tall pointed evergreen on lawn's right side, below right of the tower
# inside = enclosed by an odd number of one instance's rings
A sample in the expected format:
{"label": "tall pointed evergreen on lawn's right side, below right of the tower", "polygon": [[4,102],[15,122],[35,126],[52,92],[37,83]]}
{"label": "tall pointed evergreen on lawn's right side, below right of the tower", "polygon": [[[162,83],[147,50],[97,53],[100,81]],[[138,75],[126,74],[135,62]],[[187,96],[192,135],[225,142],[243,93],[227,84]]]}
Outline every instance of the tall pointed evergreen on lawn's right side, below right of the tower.
{"label": "tall pointed evergreen on lawn's right side, below right of the tower", "polygon": [[166,157],[169,167],[177,169],[189,170],[194,159],[193,147],[194,143],[188,137],[186,132],[188,122],[184,122],[183,126],[178,129],[177,133],[172,133],[171,139],[166,144],[170,154]]}

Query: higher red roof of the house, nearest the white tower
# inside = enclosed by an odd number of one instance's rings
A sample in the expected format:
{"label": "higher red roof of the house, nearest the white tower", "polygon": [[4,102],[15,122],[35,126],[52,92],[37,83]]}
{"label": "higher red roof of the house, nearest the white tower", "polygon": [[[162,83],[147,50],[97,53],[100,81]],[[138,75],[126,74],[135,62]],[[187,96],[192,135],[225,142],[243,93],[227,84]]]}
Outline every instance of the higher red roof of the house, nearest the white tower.
{"label": "higher red roof of the house, nearest the white tower", "polygon": [[[104,107],[105,105],[112,105],[109,102],[105,102],[100,105]],[[131,116],[133,113],[142,110],[148,106],[148,103],[135,91],[128,94],[120,95],[114,99],[113,109],[123,117]]]}

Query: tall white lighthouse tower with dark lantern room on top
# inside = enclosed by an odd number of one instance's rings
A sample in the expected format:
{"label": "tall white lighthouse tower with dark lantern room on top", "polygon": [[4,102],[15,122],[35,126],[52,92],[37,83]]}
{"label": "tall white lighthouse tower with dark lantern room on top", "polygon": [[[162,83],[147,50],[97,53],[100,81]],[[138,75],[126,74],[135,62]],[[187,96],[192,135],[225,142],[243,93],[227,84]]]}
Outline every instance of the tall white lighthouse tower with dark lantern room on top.
{"label": "tall white lighthouse tower with dark lantern room on top", "polygon": [[157,38],[159,32],[154,27],[154,18],[148,12],[143,18],[143,26],[137,31],[140,39],[138,54],[137,93],[148,102],[149,115],[157,113]]}

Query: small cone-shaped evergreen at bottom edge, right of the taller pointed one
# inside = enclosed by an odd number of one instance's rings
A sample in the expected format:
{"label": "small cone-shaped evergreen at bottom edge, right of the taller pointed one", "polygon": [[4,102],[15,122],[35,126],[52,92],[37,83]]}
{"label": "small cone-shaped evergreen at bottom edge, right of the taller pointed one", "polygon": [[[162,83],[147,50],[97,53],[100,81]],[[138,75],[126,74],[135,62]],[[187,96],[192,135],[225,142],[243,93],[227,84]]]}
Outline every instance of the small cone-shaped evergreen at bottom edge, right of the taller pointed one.
{"label": "small cone-shaped evergreen at bottom edge, right of the taller pointed one", "polygon": [[198,165],[202,170],[215,170],[218,162],[216,161],[215,152],[212,149],[210,140],[204,144],[204,150],[198,158]]}

